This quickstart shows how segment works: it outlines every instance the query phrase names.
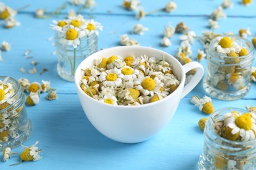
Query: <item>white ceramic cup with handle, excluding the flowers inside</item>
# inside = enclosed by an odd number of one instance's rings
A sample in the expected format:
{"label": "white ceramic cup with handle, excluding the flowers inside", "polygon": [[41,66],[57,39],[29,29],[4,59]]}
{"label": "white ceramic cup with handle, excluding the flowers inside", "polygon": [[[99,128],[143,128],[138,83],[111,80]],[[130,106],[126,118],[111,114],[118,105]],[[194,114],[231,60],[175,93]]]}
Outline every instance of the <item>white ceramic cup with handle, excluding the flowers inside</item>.
{"label": "white ceramic cup with handle, excluding the flowers inside", "polygon": [[[138,106],[109,105],[89,97],[81,90],[79,82],[84,76],[81,69],[91,67],[94,59],[109,58],[113,55],[126,57],[131,54],[145,54],[156,59],[162,59],[164,56],[165,61],[171,63],[174,75],[181,82],[179,87],[160,101]],[[197,69],[196,75],[184,86],[186,73],[192,69]],[[96,52],[83,60],[75,71],[75,86],[87,118],[100,133],[121,143],[139,143],[150,139],[169,123],[182,97],[200,82],[202,76],[203,67],[198,62],[182,66],[177,59],[161,50],[143,46],[117,46]]]}

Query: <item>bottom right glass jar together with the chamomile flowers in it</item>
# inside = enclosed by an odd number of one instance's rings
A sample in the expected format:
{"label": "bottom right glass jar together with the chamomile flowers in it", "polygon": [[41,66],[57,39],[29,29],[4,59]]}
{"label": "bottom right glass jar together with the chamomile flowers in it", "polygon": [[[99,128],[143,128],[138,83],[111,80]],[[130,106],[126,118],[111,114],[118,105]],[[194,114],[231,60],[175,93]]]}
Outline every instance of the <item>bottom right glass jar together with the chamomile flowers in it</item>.
{"label": "bottom right glass jar together with the chamomile flowers in it", "polygon": [[199,169],[256,168],[256,113],[237,108],[217,110],[204,128]]}

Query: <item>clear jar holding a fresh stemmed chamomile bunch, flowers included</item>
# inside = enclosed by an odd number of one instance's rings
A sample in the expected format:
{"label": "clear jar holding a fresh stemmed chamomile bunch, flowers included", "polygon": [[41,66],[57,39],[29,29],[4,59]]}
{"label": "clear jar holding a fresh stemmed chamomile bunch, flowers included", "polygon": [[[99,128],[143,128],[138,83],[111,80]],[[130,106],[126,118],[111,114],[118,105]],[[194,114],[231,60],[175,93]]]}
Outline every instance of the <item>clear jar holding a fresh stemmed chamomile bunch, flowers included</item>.
{"label": "clear jar holding a fresh stemmed chamomile bunch, flowers included", "polygon": [[102,30],[102,25],[94,20],[85,20],[81,15],[53,23],[58,75],[64,80],[74,81],[79,63],[98,50],[98,30]]}

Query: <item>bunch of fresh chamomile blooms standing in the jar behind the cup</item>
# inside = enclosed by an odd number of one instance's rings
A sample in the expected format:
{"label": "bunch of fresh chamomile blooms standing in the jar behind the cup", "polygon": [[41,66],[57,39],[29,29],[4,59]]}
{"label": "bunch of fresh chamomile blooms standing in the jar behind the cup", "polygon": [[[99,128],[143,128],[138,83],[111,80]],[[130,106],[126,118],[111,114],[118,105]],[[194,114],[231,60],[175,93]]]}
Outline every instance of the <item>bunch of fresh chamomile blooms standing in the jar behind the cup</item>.
{"label": "bunch of fresh chamomile blooms standing in the jar behind the cup", "polygon": [[83,37],[93,34],[98,36],[98,30],[102,30],[102,25],[94,20],[85,20],[83,16],[77,15],[69,17],[67,20],[53,21],[51,24],[58,36],[60,44],[77,48]]}

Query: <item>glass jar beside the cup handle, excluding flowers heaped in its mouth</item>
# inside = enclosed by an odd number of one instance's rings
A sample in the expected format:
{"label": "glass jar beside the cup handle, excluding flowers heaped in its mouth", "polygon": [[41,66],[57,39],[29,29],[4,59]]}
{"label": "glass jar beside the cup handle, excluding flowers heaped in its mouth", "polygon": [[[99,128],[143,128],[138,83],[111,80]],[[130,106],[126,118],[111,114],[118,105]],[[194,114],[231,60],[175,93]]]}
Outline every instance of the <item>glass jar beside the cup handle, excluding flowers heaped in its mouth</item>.
{"label": "glass jar beside the cup handle, excluding flowers heaped in its mouth", "polygon": [[207,50],[207,72],[203,88],[211,97],[221,100],[236,100],[244,97],[250,89],[251,66],[254,60],[253,44],[242,37],[230,37],[247,50],[247,55],[232,57],[219,54],[216,37]]}

